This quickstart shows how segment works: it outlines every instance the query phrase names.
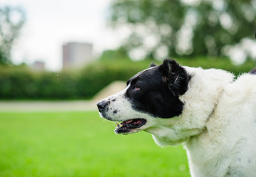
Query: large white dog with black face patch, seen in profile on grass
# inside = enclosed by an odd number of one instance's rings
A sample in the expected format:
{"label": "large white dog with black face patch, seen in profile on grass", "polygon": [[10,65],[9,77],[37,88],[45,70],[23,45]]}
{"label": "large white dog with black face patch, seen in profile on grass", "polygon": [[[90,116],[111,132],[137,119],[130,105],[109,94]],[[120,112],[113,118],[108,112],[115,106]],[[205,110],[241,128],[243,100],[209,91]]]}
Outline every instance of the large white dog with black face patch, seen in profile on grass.
{"label": "large white dog with black face patch, seen in profile on grass", "polygon": [[181,66],[166,59],[97,106],[115,133],[146,131],[183,144],[191,176],[256,176],[256,75]]}

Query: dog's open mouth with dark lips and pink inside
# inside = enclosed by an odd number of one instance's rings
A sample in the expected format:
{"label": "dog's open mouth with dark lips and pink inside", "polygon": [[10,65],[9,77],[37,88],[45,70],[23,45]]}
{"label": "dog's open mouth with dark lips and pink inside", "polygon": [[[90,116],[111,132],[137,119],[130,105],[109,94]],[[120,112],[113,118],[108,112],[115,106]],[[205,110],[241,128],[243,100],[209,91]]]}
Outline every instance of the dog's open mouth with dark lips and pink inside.
{"label": "dog's open mouth with dark lips and pink inside", "polygon": [[118,126],[115,128],[115,133],[130,133],[137,128],[141,128],[146,124],[146,119],[128,119],[124,122],[121,122],[121,125],[116,123]]}

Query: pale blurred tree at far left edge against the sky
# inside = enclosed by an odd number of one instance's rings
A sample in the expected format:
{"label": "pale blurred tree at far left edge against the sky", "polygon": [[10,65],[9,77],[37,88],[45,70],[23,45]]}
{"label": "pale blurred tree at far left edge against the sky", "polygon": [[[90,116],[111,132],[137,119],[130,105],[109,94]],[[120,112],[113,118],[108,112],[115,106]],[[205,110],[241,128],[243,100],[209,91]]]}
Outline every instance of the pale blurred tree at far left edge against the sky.
{"label": "pale blurred tree at far left edge against the sky", "polygon": [[0,64],[11,63],[11,50],[20,35],[25,19],[21,7],[0,7]]}

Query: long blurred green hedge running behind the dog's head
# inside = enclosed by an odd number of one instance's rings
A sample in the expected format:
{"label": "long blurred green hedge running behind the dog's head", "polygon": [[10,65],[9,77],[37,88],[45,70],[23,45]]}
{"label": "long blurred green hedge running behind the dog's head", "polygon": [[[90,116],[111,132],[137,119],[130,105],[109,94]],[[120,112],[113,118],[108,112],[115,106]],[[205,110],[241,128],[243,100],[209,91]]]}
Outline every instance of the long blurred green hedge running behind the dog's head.
{"label": "long blurred green hedge running behind the dog's head", "polygon": [[[249,72],[252,60],[234,66],[227,59],[180,59],[186,66],[226,69],[235,74]],[[113,80],[128,80],[133,74],[146,69],[151,62],[129,60],[98,61],[78,71],[33,72],[27,67],[0,67],[1,100],[68,100],[90,99]],[[159,64],[159,63],[158,63]]]}

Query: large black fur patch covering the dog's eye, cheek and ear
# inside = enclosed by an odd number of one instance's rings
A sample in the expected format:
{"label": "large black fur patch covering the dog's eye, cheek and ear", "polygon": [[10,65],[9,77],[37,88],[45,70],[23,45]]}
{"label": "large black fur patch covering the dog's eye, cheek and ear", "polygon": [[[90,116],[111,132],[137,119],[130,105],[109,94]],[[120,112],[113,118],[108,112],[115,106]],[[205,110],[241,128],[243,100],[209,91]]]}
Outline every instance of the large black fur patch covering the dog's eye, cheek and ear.
{"label": "large black fur patch covering the dog's eye, cheek and ear", "polygon": [[128,80],[126,97],[132,108],[153,115],[171,118],[181,114],[183,103],[178,96],[188,89],[189,74],[175,60],[164,60]]}

